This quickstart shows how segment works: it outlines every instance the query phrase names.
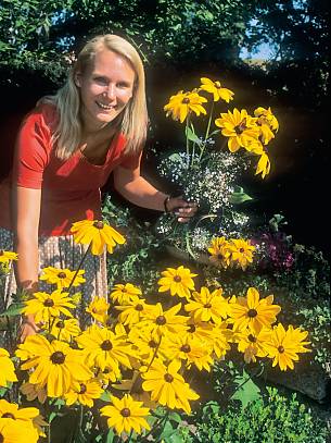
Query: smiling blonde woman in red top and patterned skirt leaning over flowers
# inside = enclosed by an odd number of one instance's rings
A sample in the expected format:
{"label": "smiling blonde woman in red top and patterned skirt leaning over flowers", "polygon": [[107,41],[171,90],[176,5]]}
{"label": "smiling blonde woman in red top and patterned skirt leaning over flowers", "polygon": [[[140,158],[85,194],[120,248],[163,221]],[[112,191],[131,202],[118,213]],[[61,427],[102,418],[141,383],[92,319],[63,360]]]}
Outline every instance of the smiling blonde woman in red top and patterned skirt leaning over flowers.
{"label": "smiling blonde woman in red top and patterned skirt leaning over flowers", "polygon": [[[147,126],[138,52],[115,35],[93,38],[78,54],[66,84],[55,96],[39,100],[26,116],[13,172],[0,186],[0,248],[18,254],[20,287],[40,288],[41,268],[77,268],[84,248],[74,244],[71,225],[101,218],[100,188],[111,172],[115,188],[138,206],[177,208],[179,221],[195,212],[194,205],[170,198],[140,175]],[[84,269],[82,299],[106,295],[105,255],[88,256]],[[10,276],[7,303],[13,291]],[[22,339],[36,329],[34,318],[25,319]]]}

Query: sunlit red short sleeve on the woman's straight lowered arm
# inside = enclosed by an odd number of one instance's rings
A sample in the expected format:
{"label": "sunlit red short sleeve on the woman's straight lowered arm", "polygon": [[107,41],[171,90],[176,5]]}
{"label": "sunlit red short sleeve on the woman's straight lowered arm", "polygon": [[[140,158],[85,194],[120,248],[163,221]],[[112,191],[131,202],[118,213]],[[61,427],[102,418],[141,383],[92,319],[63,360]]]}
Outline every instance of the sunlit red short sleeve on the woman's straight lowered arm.
{"label": "sunlit red short sleeve on the woman's straight lowered arm", "polygon": [[23,122],[15,146],[13,182],[40,189],[49,161],[51,133],[41,112],[30,113]]}

